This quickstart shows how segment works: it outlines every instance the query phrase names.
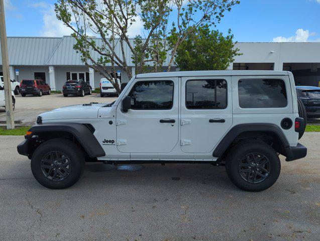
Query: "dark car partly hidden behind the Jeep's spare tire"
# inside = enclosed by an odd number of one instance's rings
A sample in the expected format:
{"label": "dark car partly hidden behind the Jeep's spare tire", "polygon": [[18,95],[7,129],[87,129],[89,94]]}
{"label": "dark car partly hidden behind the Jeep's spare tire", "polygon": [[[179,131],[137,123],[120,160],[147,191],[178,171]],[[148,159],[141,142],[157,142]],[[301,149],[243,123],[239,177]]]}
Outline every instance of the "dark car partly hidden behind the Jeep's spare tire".
{"label": "dark car partly hidden behind the Jeep's spare tire", "polygon": [[320,117],[320,87],[295,86],[297,97],[305,106],[308,117]]}

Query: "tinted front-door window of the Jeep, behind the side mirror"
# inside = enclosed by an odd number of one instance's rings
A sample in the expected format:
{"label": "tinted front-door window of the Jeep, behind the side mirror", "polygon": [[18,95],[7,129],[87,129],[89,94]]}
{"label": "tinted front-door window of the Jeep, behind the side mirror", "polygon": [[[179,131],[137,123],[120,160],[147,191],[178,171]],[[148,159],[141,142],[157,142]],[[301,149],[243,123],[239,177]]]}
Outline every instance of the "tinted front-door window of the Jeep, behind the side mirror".
{"label": "tinted front-door window of the Jeep, behind the side mirror", "polygon": [[129,96],[134,99],[133,109],[171,109],[172,81],[140,81],[135,83]]}

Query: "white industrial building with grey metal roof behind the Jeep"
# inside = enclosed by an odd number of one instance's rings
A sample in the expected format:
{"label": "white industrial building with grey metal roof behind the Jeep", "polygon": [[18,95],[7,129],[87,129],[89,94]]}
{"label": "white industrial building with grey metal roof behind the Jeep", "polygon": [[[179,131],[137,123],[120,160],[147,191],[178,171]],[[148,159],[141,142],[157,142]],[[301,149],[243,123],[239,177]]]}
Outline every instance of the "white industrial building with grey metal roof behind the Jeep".
{"label": "white industrial building with grey metal roof behind the Jeep", "polygon": [[[99,87],[102,76],[81,62],[80,54],[73,49],[74,43],[70,36],[8,37],[11,78],[18,81],[43,79],[52,90],[61,90],[68,79],[84,79],[93,88]],[[101,44],[101,40],[96,39],[96,43]],[[289,70],[297,85],[320,85],[320,43],[238,43],[237,47],[243,55],[235,57],[229,69]],[[120,47],[116,48],[120,53]],[[130,61],[130,49],[127,47],[125,52]],[[134,64],[128,62],[128,65],[134,73]],[[19,70],[19,75],[16,75],[16,70]],[[176,71],[175,67],[172,71]],[[121,71],[121,79],[122,82],[129,81],[124,71]]]}

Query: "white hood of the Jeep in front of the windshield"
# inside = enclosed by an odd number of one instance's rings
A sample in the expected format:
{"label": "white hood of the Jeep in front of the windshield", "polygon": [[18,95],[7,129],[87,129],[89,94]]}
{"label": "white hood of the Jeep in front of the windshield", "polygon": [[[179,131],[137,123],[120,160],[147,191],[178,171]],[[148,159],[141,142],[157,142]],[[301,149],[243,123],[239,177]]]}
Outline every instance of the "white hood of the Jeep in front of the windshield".
{"label": "white hood of the Jeep in front of the windshield", "polygon": [[[98,110],[105,103],[99,104],[77,104],[77,105],[69,105],[65,107],[61,107],[58,109],[53,109],[48,112],[44,112],[40,114],[43,121],[51,120],[51,119],[82,119],[82,118],[97,118]],[[110,108],[110,107],[105,107]]]}

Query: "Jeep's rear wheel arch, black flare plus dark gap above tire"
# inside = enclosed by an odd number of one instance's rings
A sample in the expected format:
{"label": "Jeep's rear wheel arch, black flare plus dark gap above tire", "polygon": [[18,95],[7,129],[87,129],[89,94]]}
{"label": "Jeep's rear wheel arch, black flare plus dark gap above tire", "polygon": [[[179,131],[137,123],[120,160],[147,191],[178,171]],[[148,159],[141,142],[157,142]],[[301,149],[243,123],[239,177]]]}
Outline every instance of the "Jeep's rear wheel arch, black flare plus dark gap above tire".
{"label": "Jeep's rear wheel arch, black flare plus dark gap above tire", "polygon": [[282,130],[269,123],[240,124],[233,127],[220,141],[213,152],[213,156],[222,158],[234,145],[242,141],[258,140],[272,146],[276,152],[287,156],[289,142]]}

